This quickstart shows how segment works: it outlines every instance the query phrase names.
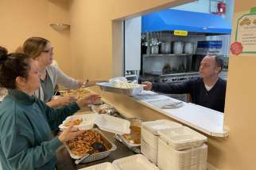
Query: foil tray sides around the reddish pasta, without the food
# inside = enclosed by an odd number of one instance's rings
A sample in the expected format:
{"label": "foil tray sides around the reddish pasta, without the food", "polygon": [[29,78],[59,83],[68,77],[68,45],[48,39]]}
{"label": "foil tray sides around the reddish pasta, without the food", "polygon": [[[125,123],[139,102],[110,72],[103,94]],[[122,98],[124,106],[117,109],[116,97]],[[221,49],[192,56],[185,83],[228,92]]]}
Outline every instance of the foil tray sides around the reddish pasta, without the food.
{"label": "foil tray sides around the reddish pasta, without the food", "polygon": [[[105,151],[105,152],[101,152],[101,153],[94,153],[94,154],[91,154],[90,156],[84,158],[83,161],[81,161],[80,163],[88,163],[88,162],[92,162],[92,161],[98,161],[98,160],[101,160],[107,156],[109,156],[109,154],[111,154],[111,152],[113,152],[115,149],[117,149],[116,145],[114,145],[113,142],[109,141],[106,136],[103,135],[103,133],[98,130],[98,129],[93,129],[95,130],[96,132],[98,132],[102,138],[103,138],[103,143],[107,146],[108,150]],[[65,147],[66,149],[68,150],[68,153],[70,155],[70,157],[72,157],[73,159],[77,160],[77,159],[80,159],[80,157],[83,157],[83,156],[77,156],[77,155],[74,155],[71,153],[70,149],[68,148],[68,145],[65,144]]]}

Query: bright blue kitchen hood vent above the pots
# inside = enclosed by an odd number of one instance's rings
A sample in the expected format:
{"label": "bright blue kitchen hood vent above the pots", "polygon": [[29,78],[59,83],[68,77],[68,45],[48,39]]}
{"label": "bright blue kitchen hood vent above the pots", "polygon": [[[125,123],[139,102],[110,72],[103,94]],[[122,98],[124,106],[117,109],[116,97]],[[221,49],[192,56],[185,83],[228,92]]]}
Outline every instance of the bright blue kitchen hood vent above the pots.
{"label": "bright blue kitchen hood vent above the pots", "polygon": [[213,34],[231,34],[231,25],[215,14],[165,9],[142,16],[142,32],[185,30]]}

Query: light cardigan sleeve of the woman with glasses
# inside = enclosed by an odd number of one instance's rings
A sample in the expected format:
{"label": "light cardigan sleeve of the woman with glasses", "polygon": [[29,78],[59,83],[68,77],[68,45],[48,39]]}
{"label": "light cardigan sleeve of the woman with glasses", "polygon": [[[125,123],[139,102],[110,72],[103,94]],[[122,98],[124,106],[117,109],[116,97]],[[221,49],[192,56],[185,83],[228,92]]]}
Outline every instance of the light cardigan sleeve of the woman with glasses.
{"label": "light cardigan sleeve of the woman with glasses", "polygon": [[55,67],[56,69],[56,84],[57,85],[64,85],[68,89],[78,89],[80,88],[79,83],[76,79],[69,77],[68,75],[64,74],[59,68]]}

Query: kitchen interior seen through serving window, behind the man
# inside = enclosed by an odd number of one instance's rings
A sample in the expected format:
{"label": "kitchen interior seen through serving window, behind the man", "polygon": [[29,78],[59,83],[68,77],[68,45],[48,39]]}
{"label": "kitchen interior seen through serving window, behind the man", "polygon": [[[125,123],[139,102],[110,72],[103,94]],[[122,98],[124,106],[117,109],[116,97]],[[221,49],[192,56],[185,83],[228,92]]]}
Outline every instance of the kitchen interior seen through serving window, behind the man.
{"label": "kitchen interior seen through serving window, behind the man", "polygon": [[[199,77],[205,55],[223,59],[219,77],[227,80],[232,6],[210,0],[207,6],[192,7],[202,2],[124,21],[124,75],[128,80],[179,83]],[[188,101],[186,94],[168,96]]]}

